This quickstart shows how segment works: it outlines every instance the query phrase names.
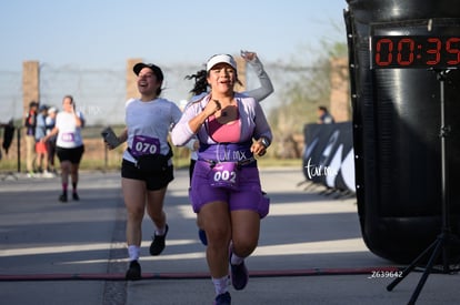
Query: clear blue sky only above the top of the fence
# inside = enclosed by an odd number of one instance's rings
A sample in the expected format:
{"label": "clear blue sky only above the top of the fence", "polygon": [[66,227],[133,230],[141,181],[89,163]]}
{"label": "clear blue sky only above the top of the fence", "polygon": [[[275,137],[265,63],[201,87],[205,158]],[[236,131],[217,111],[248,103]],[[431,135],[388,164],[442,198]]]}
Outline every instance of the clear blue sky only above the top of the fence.
{"label": "clear blue sky only above the top of the fence", "polygon": [[218,52],[256,50],[284,61],[321,39],[346,41],[346,0],[14,0],[0,3],[0,70],[22,61],[124,68],[202,63]]}

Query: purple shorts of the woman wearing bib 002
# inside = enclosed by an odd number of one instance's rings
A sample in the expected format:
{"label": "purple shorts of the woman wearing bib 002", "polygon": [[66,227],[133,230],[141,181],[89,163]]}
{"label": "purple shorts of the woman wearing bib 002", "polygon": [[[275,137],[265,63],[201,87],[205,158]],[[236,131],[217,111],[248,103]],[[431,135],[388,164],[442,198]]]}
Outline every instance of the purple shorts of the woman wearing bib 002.
{"label": "purple shorts of the woman wearing bib 002", "polygon": [[193,212],[200,212],[207,203],[223,201],[229,204],[230,211],[251,210],[263,218],[269,212],[270,200],[262,194],[259,170],[257,166],[238,169],[238,185],[234,189],[214,187],[211,164],[197,161],[190,189],[190,201]]}

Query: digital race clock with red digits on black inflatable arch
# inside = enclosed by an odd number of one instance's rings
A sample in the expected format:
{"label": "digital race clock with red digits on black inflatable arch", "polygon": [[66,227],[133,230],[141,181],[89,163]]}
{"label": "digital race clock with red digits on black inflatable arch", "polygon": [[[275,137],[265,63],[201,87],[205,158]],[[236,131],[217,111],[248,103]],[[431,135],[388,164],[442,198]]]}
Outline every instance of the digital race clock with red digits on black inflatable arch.
{"label": "digital race clock with red digits on black inflatable arch", "polygon": [[459,35],[373,35],[371,68],[448,69],[460,65]]}

